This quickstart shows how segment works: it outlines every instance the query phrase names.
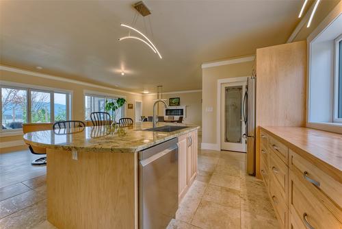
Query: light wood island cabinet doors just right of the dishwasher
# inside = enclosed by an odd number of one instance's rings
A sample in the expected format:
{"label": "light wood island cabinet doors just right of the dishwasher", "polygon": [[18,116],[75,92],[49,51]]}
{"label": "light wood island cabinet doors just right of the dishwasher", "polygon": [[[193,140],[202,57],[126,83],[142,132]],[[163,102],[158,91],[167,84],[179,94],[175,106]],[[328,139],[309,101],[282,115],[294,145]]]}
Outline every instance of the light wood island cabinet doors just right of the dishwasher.
{"label": "light wood island cabinet doors just right of the dishwasher", "polygon": [[197,175],[197,130],[178,137],[179,147],[179,202]]}

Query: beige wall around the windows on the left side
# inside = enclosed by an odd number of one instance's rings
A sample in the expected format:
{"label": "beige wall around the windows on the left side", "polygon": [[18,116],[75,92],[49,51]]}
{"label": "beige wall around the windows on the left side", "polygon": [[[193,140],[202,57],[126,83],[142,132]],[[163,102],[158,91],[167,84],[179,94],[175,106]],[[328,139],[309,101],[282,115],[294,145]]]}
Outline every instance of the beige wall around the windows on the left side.
{"label": "beige wall around the windows on the left side", "polygon": [[[82,84],[75,84],[75,83],[69,83],[69,82],[63,82],[60,80],[51,80],[43,77],[33,76],[29,73],[15,73],[12,71],[5,71],[0,70],[0,80],[2,82],[13,82],[13,83],[19,83],[19,84],[30,84],[35,86],[42,86],[42,87],[48,87],[48,88],[56,88],[56,89],[62,89],[67,91],[72,91],[72,101],[71,101],[71,113],[72,113],[72,119],[78,119],[78,120],[84,120],[84,90],[86,91],[94,91],[98,93],[106,93],[110,95],[118,95],[118,96],[124,96],[127,99],[127,104],[134,104],[135,100],[142,100],[142,95],[139,94],[131,94],[131,93],[125,93],[122,91],[117,91],[115,89],[104,89],[94,86],[86,86]],[[134,110],[127,109],[127,105],[125,108],[125,116],[131,117],[133,119],[134,117]],[[10,136],[10,137],[1,137],[0,136],[0,143],[5,143],[8,141],[18,141],[22,140],[23,136]],[[7,149],[4,149],[0,147],[1,152],[7,151]]]}

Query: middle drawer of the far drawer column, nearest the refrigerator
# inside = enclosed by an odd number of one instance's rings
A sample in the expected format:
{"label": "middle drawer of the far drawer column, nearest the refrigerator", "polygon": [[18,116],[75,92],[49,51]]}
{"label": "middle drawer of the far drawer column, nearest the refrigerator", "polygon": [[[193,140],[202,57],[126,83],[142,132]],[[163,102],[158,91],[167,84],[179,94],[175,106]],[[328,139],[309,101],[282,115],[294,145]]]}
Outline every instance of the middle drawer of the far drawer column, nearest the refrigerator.
{"label": "middle drawer of the far drawer column, nearest the refrigerator", "polygon": [[289,168],[285,165],[274,152],[269,154],[269,173],[274,176],[282,191],[282,196],[287,200],[288,184],[289,184]]}

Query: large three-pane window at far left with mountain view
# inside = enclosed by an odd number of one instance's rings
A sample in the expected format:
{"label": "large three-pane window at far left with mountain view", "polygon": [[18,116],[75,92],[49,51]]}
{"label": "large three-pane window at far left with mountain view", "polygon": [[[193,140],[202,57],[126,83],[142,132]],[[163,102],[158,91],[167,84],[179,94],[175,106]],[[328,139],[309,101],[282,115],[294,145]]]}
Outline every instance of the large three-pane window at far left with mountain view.
{"label": "large three-pane window at far left with mountain view", "polygon": [[70,117],[70,93],[1,86],[0,131],[18,130],[23,123],[44,123]]}

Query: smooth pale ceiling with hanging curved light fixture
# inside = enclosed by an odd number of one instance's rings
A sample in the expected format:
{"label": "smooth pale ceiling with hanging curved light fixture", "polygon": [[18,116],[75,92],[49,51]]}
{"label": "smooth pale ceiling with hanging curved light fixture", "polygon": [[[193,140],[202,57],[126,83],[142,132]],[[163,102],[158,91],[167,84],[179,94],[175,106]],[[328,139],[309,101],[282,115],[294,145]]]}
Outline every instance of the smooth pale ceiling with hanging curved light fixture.
{"label": "smooth pale ceiling with hanging curved light fixture", "polygon": [[[118,41],[135,1],[1,1],[1,63],[131,91],[202,87],[200,64],[285,43],[302,1],[145,1],[163,59]],[[148,20],[146,21],[148,25]],[[135,26],[145,32],[142,16]],[[126,74],[120,75],[124,69]]]}

